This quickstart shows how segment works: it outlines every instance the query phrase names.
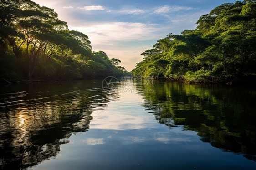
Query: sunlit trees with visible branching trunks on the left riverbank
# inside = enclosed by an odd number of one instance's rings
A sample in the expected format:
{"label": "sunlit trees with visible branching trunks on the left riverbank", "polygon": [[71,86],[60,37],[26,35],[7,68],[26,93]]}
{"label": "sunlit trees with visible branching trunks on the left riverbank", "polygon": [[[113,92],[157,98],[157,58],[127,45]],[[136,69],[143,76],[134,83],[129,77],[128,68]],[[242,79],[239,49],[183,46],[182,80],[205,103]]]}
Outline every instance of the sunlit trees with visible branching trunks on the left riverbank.
{"label": "sunlit trees with visible branching trunks on the left riverbank", "polygon": [[0,76],[10,80],[73,80],[129,73],[88,36],[69,30],[50,8],[30,0],[0,0]]}

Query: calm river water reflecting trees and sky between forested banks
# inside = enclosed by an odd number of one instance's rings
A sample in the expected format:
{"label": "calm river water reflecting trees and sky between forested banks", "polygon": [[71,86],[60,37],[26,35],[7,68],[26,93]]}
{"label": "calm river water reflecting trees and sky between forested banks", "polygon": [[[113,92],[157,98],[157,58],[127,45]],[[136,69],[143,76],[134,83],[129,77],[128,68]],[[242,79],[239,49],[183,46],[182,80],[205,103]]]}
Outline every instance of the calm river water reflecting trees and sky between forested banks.
{"label": "calm river water reflecting trees and sky between forested banks", "polygon": [[255,170],[255,122],[248,87],[0,85],[0,168]]}

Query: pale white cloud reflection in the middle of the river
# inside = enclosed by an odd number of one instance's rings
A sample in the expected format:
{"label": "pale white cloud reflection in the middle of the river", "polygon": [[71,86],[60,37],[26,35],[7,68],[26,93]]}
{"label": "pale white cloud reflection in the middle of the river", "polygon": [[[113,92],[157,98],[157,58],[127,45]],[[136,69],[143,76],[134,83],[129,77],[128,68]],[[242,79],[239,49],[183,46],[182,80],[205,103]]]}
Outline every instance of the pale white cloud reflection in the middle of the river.
{"label": "pale white cloud reflection in the middle of the river", "polygon": [[117,91],[120,95],[118,101],[111,102],[108,108],[94,110],[90,123],[91,129],[102,130],[135,130],[152,127],[155,120],[145,114],[142,96],[123,93],[122,88]]}

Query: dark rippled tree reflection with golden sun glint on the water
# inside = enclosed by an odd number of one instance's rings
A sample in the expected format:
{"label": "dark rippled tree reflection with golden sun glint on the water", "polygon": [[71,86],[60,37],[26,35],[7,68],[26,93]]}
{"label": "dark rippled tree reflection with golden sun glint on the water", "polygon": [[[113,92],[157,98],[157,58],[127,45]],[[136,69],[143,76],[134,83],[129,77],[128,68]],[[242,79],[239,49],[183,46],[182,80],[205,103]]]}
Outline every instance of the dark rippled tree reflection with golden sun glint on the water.
{"label": "dark rippled tree reflection with golden sun glint on the water", "polygon": [[93,109],[103,109],[118,98],[102,91],[101,83],[1,85],[1,169],[22,169],[56,157],[72,133],[89,128]]}

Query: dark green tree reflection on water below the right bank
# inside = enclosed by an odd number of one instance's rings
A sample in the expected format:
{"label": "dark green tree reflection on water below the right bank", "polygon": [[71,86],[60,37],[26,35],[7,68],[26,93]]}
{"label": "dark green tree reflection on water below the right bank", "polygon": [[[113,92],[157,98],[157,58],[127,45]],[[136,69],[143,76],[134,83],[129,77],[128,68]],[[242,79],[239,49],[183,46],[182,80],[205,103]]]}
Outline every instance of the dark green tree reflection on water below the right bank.
{"label": "dark green tree reflection on water below the right bank", "polygon": [[163,82],[143,88],[154,90],[142,94],[159,123],[182,125],[203,142],[256,161],[255,88]]}

